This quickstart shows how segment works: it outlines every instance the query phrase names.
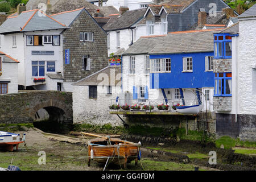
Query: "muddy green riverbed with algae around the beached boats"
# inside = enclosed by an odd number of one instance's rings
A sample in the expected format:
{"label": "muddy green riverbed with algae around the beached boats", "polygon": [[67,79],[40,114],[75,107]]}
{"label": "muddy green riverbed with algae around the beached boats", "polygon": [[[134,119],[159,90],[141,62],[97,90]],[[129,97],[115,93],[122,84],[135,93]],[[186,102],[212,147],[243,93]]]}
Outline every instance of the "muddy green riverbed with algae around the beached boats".
{"label": "muddy green riverbed with algae around the beached boats", "polygon": [[[0,167],[2,168],[7,168],[13,160],[13,165],[23,171],[102,171],[104,169],[104,165],[93,161],[90,167],[87,166],[88,150],[85,144],[89,139],[87,137],[83,141],[76,142],[74,136],[74,140],[61,138],[32,128],[26,132],[16,133],[26,133],[26,144],[20,144],[19,151],[0,151]],[[146,142],[147,145],[142,143],[142,160],[138,162],[137,166],[131,162],[127,165],[126,170],[194,171],[195,167],[207,171],[241,169],[240,164],[231,165],[229,168],[225,166],[229,164],[225,164],[222,168],[220,164],[218,167],[210,166],[208,164],[210,156],[198,150],[192,151],[191,146],[191,151],[185,151],[179,146],[165,146],[163,143],[156,143],[155,146]],[[46,154],[45,164],[42,155],[39,154]],[[243,169],[253,170],[255,168],[244,167]],[[123,167],[108,165],[106,170],[123,170]]]}

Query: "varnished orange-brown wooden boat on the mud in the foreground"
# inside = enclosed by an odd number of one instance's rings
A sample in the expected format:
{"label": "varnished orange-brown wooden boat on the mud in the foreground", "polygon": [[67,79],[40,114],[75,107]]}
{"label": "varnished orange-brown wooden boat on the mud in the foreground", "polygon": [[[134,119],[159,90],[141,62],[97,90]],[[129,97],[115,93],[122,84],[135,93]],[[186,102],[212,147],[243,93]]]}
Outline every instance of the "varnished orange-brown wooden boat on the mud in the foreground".
{"label": "varnished orange-brown wooden boat on the mud in the foreground", "polygon": [[95,160],[98,163],[120,164],[124,168],[133,160],[135,160],[135,165],[138,164],[141,154],[140,144],[119,138],[101,137],[83,132],[82,134],[100,137],[88,142],[88,166],[90,166],[90,160]]}

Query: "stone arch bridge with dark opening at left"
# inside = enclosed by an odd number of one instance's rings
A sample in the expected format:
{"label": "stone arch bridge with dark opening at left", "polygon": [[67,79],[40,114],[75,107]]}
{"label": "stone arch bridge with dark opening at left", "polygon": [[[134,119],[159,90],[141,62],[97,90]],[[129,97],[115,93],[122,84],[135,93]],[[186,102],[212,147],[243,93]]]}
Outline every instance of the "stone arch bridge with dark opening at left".
{"label": "stone arch bridge with dark opening at left", "polygon": [[27,123],[45,109],[51,121],[73,121],[72,93],[58,91],[24,91],[0,95],[0,123]]}

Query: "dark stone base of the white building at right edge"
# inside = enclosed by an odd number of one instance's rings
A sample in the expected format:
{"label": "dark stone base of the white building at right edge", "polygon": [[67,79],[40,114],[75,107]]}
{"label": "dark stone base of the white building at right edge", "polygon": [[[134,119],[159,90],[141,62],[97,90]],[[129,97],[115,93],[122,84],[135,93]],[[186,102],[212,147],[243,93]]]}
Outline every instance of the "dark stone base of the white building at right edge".
{"label": "dark stone base of the white building at right edge", "polygon": [[256,115],[238,114],[237,121],[240,126],[239,138],[241,140],[256,140]]}

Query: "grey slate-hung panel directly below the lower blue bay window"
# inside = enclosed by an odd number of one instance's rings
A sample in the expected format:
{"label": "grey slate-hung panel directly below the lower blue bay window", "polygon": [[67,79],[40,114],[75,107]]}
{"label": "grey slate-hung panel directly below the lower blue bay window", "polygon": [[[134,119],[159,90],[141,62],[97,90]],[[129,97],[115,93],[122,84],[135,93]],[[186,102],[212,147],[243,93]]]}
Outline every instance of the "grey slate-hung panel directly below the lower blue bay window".
{"label": "grey slate-hung panel directly below the lower blue bay window", "polygon": [[213,97],[213,108],[217,111],[231,111],[232,97]]}

